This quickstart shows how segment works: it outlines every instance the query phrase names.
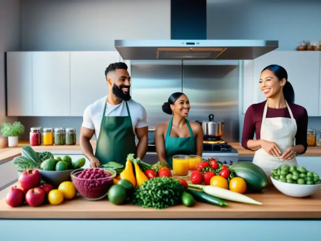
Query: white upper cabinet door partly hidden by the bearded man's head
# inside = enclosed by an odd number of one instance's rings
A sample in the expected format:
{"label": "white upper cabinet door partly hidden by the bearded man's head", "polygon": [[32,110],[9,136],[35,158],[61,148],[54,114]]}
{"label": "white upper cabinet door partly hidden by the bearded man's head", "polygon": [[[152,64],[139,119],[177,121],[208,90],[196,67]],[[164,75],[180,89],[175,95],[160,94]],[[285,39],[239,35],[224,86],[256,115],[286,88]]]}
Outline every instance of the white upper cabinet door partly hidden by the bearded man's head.
{"label": "white upper cabinet door partly hidden by the bearded man's head", "polygon": [[88,105],[108,94],[105,69],[119,61],[117,51],[70,52],[71,116],[83,116]]}

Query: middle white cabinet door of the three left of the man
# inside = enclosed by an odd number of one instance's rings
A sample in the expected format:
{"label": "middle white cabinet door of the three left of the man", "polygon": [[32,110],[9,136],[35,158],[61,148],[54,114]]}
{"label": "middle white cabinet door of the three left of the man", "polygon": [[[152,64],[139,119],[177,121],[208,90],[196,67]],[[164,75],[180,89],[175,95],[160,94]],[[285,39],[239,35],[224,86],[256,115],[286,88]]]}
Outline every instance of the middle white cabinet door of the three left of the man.
{"label": "middle white cabinet door of the three left of the man", "polygon": [[33,116],[70,116],[69,55],[32,53]]}

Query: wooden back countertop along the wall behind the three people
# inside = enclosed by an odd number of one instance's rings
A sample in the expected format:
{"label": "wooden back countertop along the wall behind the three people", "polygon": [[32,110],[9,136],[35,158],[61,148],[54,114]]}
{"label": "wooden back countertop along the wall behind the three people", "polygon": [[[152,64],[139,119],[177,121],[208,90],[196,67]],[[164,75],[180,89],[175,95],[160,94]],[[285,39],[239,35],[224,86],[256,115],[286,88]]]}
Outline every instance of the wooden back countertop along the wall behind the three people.
{"label": "wooden back countertop along the wall behind the three people", "polygon": [[[238,152],[239,156],[254,156],[254,151],[244,149],[238,142],[231,142],[229,143],[232,147],[234,147]],[[24,145],[29,145],[27,141],[19,142],[18,147],[7,147],[4,149],[0,149],[0,162],[7,161],[13,159],[16,156],[21,155],[21,147]],[[91,145],[93,149],[96,148],[96,141],[92,140]],[[32,147],[36,151],[42,150],[70,150],[70,151],[80,151],[79,143],[74,146],[34,146]],[[305,154],[300,156],[321,156],[321,147],[308,147],[308,150]],[[213,156],[214,157],[214,156]]]}

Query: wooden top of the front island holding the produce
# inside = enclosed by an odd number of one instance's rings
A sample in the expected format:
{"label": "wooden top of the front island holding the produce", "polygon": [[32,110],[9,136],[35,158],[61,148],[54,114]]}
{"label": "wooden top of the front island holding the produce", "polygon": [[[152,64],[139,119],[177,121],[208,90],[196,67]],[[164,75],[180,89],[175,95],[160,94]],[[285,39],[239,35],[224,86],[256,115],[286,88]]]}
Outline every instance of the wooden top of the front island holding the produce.
{"label": "wooden top of the front island holding the produce", "polygon": [[[173,175],[174,176],[174,175]],[[175,177],[175,176],[174,176]],[[190,182],[189,178],[185,178]],[[321,219],[321,189],[310,198],[292,198],[274,187],[248,194],[263,205],[227,201],[228,207],[197,202],[194,207],[178,205],[162,210],[132,205],[113,205],[107,199],[87,201],[82,197],[60,205],[12,208],[0,200],[3,219]]]}

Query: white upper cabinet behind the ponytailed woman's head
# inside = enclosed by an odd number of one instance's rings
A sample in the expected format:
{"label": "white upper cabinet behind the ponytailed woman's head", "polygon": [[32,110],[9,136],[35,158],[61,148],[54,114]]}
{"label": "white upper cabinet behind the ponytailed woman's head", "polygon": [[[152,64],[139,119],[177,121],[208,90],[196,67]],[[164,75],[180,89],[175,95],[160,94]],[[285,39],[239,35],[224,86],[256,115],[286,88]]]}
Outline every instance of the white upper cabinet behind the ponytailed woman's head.
{"label": "white upper cabinet behind the ponytailed woman's head", "polygon": [[319,116],[320,52],[272,51],[254,59],[254,103],[266,99],[259,89],[259,79],[262,69],[271,64],[281,65],[288,72],[288,80],[295,93],[294,103],[305,107],[308,116]]}

